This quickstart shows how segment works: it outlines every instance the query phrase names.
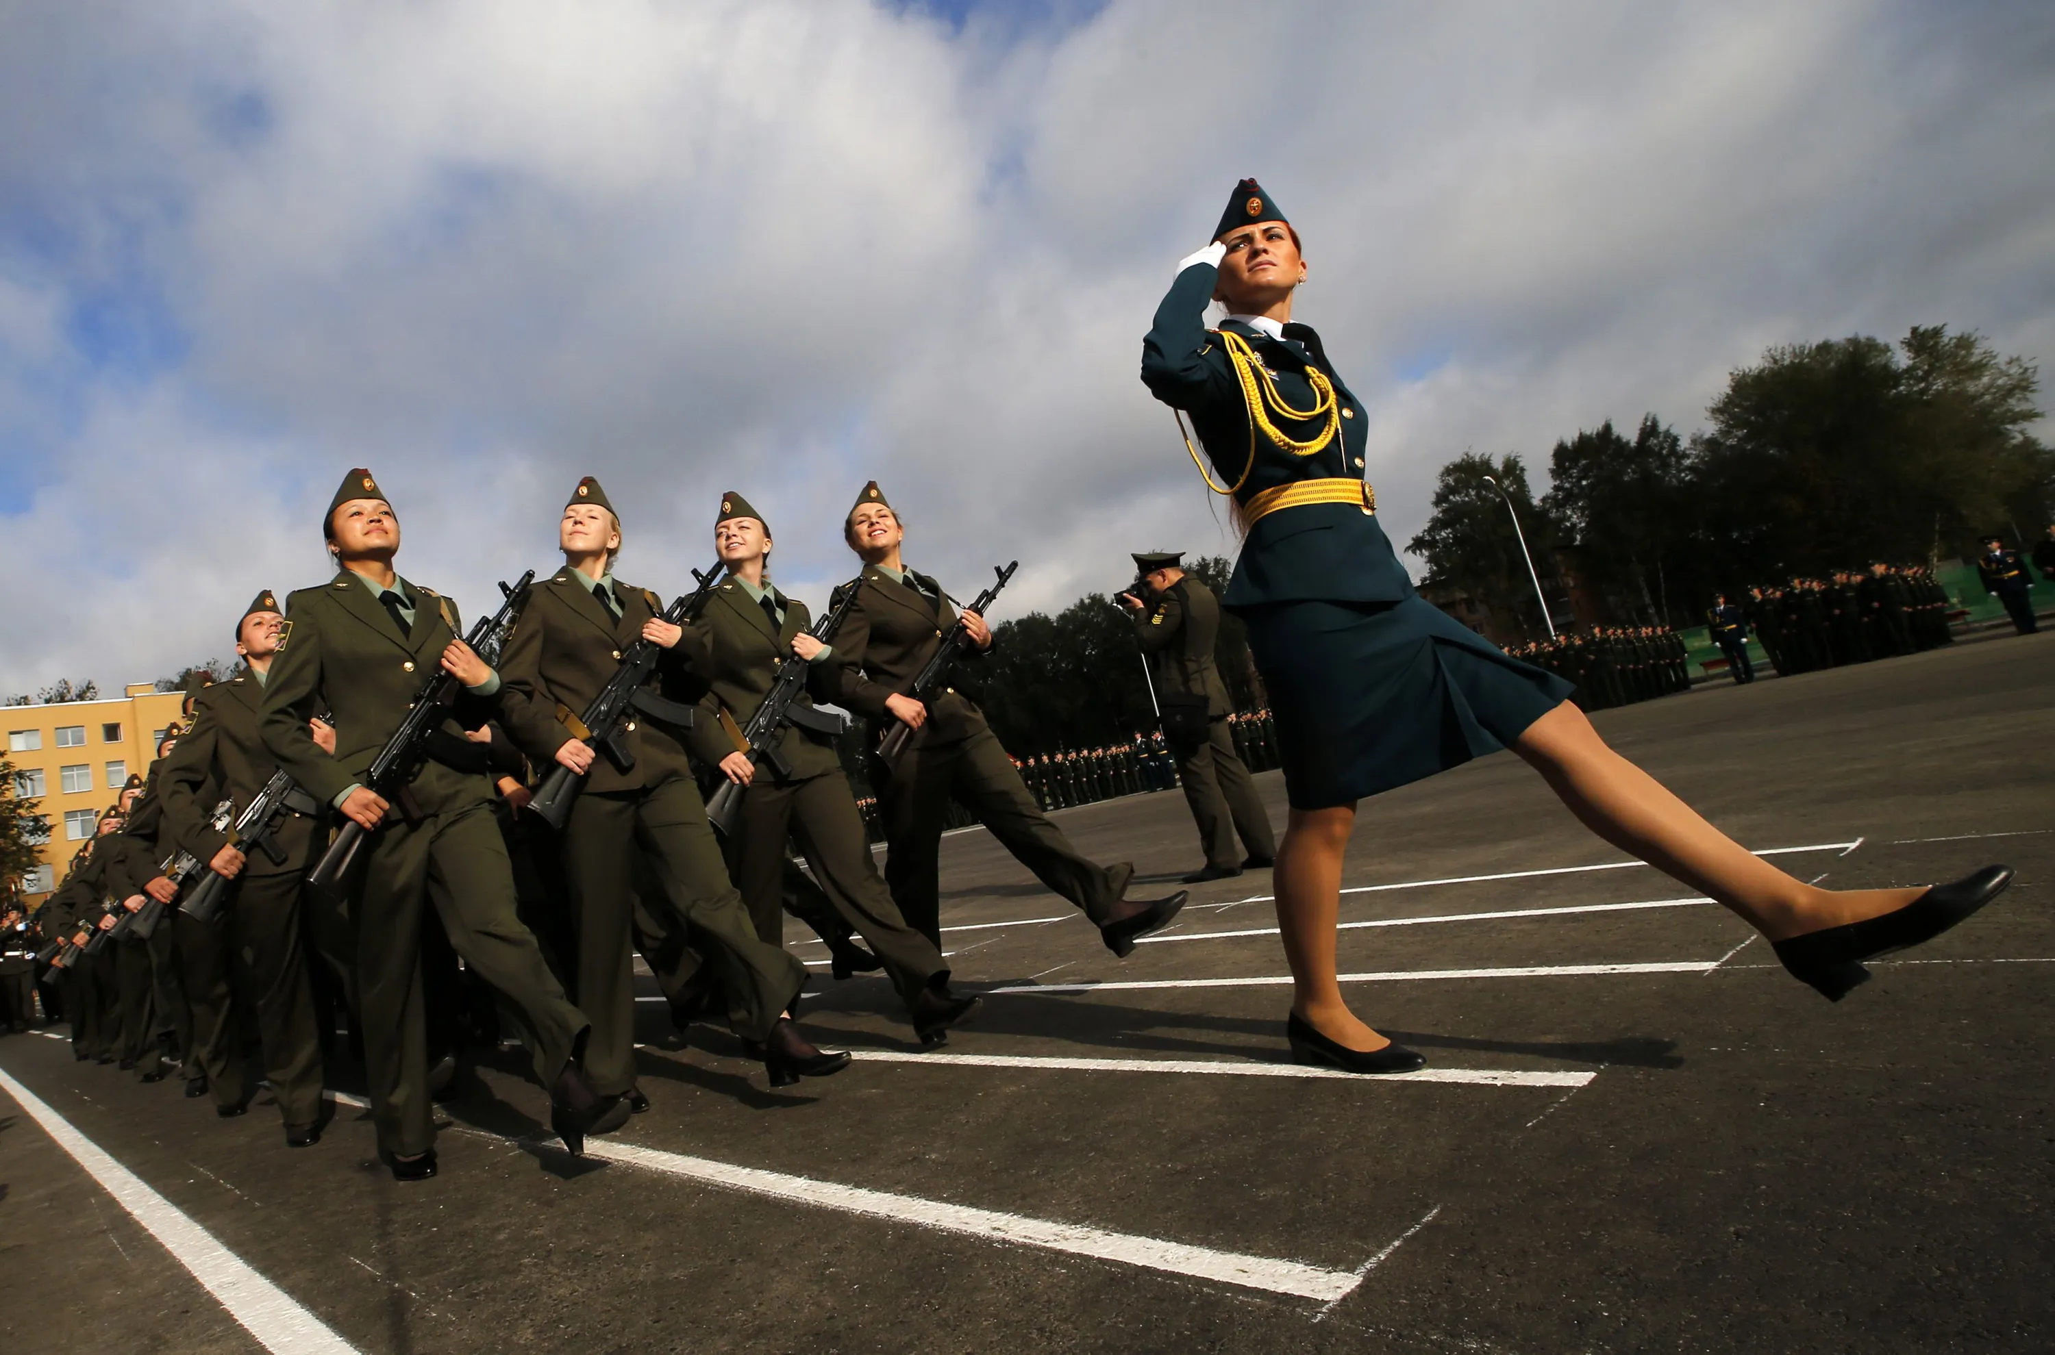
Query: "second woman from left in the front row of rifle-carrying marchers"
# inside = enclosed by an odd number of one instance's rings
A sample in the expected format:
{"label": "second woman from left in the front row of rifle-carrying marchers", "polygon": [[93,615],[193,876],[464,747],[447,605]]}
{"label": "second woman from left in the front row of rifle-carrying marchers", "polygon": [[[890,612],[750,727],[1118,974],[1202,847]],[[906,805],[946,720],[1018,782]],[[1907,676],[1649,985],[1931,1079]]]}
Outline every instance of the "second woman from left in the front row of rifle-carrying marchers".
{"label": "second woman from left in the front row of rifle-carrying marchers", "polygon": [[668,653],[651,682],[678,678],[705,667],[703,628],[666,622],[656,593],[614,579],[621,519],[592,476],[563,505],[557,544],[563,569],[534,587],[499,659],[508,684],[501,723],[536,764],[586,776],[563,825],[563,873],[577,926],[577,1000],[592,1014],[586,1068],[594,1084],[602,1094],[635,1086],[629,932],[637,852],[653,868],[664,903],[697,946],[711,951],[736,1035],[762,1047],[771,1084],[840,1072],[849,1055],[822,1053],[785,1014],[806,985],[806,967],[750,928],[678,733],[637,712],[623,727],[633,764],[614,766],[586,741],[590,731],[573,731],[619,671],[621,651],[637,638],[660,645]]}

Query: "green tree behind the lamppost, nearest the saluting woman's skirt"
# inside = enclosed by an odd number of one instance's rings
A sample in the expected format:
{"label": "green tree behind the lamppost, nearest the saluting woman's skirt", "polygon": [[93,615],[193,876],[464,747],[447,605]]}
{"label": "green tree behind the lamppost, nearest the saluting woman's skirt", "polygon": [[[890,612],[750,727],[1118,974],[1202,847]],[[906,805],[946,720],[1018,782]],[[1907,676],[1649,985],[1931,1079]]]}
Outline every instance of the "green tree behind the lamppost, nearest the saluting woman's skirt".
{"label": "green tree behind the lamppost, nearest the saluting woman's skirt", "polygon": [[[1506,513],[1506,499],[1519,513],[1519,530]],[[1527,638],[1547,634],[1527,556],[1521,552],[1521,532],[1543,579],[1554,573],[1552,546],[1558,534],[1535,503],[1521,458],[1506,454],[1494,462],[1465,452],[1441,468],[1432,507],[1426,528],[1406,544],[1408,552],[1426,560],[1422,587],[1465,595],[1492,614],[1510,618]]]}

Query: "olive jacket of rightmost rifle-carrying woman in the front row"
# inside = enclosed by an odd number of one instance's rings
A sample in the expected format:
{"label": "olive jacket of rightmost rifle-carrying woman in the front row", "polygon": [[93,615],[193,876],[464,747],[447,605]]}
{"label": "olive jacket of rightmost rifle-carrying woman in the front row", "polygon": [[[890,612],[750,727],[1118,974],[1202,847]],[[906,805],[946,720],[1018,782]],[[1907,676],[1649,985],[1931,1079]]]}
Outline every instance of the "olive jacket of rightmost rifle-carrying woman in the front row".
{"label": "olive jacket of rightmost rifle-carrying woman in the front row", "polygon": [[[834,704],[869,717],[877,731],[894,721],[886,710],[886,696],[906,696],[912,690],[912,680],[956,624],[956,608],[949,606],[941,585],[921,573],[912,577],[933,593],[933,599],[875,565],[865,565],[863,589],[849,608],[849,620],[834,634]],[[840,597],[836,589],[834,602]],[[982,653],[986,651],[968,647],[964,657],[976,659]],[[931,743],[954,743],[984,729],[984,712],[956,688],[931,694],[927,717],[919,737]]]}

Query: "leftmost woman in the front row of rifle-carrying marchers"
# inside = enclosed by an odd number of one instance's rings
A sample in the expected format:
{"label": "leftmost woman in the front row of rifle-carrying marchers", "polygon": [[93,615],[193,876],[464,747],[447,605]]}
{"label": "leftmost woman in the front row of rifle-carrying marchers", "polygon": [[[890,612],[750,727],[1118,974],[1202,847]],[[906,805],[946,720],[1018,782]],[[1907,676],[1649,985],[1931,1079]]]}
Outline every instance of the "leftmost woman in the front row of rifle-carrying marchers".
{"label": "leftmost woman in the front row of rifle-carrying marchers", "polygon": [[[586,1080],[586,1016],[565,1000],[514,916],[493,784],[475,770],[464,739],[495,714],[499,675],[458,638],[456,604],[393,571],[399,517],[370,470],[343,476],[323,534],[339,571],[286,599],[290,620],[257,727],[286,774],[370,834],[351,922],[378,1154],[399,1180],[436,1174],[421,1000],[421,907],[429,897],[456,953],[522,1014],[534,1072],[549,1088],[551,1127],[582,1152],[586,1135],[627,1119],[627,1107],[598,1096]],[[388,803],[364,778],[436,665],[458,678],[466,696],[399,803]],[[335,712],[333,756],[314,743],[310,719],[321,710]]]}

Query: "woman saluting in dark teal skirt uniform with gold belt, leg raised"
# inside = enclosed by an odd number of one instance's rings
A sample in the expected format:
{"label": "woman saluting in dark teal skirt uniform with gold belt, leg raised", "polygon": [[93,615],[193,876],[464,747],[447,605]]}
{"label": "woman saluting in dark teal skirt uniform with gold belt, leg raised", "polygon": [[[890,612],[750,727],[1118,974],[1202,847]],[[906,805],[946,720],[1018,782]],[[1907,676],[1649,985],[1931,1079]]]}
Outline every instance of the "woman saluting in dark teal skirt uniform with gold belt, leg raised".
{"label": "woman saluting in dark teal skirt uniform with gold belt, leg raised", "polygon": [[[1991,901],[2012,870],[1934,889],[1813,889],[1722,836],[1599,739],[1570,686],[1508,659],[1420,599],[1362,480],[1362,407],[1305,324],[1299,234],[1243,179],[1212,244],[1182,261],[1143,341],[1143,382],[1192,415],[1247,534],[1223,604],[1276,719],[1291,823],[1276,903],[1307,1061],[1406,1072],[1424,1059],[1362,1024],[1336,983],[1342,854],[1356,801],[1510,747],[1595,834],[1714,897],[1831,1000],[1864,961],[1919,944]],[[1208,331],[1208,302],[1227,318]],[[1198,454],[1192,454],[1198,460]],[[1204,464],[1200,464],[1204,472]]]}

